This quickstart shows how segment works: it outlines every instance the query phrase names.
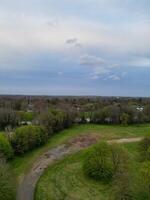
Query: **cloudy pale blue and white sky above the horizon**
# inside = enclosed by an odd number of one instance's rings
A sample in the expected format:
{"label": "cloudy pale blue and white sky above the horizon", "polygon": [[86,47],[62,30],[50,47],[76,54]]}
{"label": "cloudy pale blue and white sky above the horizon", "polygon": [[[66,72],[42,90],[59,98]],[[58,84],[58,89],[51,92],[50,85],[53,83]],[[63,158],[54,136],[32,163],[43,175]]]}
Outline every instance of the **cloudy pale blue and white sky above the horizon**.
{"label": "cloudy pale blue and white sky above the horizon", "polygon": [[0,94],[150,97],[150,1],[0,0]]}

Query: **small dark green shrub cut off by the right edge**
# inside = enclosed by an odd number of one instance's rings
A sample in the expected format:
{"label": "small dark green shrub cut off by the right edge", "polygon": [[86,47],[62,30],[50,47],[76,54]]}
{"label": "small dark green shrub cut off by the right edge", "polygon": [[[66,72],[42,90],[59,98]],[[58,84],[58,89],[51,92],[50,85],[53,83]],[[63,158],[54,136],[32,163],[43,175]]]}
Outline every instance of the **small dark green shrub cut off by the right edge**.
{"label": "small dark green shrub cut off by the right edge", "polygon": [[150,161],[150,137],[146,137],[140,142],[139,153],[141,161]]}

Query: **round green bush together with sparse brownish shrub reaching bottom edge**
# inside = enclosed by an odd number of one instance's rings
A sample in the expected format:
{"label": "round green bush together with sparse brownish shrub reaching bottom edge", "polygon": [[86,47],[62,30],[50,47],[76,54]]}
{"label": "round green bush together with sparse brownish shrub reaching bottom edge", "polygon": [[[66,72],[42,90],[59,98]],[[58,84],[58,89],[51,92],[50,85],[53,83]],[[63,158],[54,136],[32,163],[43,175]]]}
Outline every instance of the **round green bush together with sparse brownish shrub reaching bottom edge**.
{"label": "round green bush together with sparse brownish shrub reaching bottom edge", "polygon": [[120,146],[101,142],[88,152],[83,165],[84,173],[103,182],[113,180],[117,200],[132,198],[129,184],[129,157]]}

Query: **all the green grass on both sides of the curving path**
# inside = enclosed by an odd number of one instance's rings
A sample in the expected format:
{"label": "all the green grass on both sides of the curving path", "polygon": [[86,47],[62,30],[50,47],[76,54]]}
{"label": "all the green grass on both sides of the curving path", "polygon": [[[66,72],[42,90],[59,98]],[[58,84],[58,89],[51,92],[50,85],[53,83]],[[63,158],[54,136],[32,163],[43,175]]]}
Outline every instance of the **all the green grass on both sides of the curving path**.
{"label": "all the green grass on both sides of the curving path", "polygon": [[[65,129],[49,139],[46,145],[26,153],[21,157],[15,157],[15,159],[10,162],[10,166],[17,176],[18,184],[30,171],[34,162],[46,151],[67,143],[70,139],[77,136],[92,133],[99,135],[100,141],[145,137],[150,135],[150,124],[131,126],[85,124],[74,125],[71,128]],[[138,143],[121,144],[121,146],[129,152],[132,158],[133,169],[135,169],[137,164]],[[108,200],[113,190],[112,185],[91,180],[85,177],[83,173],[82,164],[86,151],[87,149],[81,150],[49,166],[38,181],[35,199]]]}

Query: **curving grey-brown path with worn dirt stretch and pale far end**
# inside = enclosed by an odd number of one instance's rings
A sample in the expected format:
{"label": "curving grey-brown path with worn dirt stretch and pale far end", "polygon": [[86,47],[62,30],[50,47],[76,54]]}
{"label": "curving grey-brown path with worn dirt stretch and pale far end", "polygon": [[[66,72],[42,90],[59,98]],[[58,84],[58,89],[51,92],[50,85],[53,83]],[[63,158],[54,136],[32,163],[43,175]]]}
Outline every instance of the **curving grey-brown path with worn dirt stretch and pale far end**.
{"label": "curving grey-brown path with worn dirt stretch and pale far end", "polygon": [[[34,164],[31,171],[24,177],[21,182],[18,192],[17,200],[33,200],[34,199],[34,190],[36,183],[44,170],[54,163],[54,161],[64,158],[64,156],[75,153],[81,149],[89,147],[90,145],[97,142],[99,137],[97,135],[85,135],[73,138],[69,141],[68,144],[59,145],[56,148],[53,148],[42,155]],[[142,138],[123,138],[123,139],[114,139],[109,140],[109,143],[130,143],[138,142]]]}

